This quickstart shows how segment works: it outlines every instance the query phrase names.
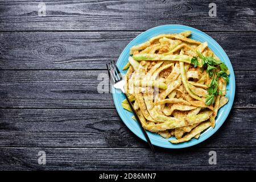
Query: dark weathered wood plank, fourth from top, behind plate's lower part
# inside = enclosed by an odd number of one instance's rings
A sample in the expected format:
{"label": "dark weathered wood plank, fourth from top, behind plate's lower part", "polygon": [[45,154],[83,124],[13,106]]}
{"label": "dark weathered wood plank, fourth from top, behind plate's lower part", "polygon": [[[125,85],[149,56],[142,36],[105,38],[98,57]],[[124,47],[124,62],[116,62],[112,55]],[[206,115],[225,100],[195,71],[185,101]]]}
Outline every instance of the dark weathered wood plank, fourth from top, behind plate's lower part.
{"label": "dark weathered wood plank, fourth from top, behind plate's lower part", "polygon": [[[148,148],[115,109],[0,109],[0,118],[0,146]],[[196,147],[256,147],[255,118],[255,109],[233,109]]]}

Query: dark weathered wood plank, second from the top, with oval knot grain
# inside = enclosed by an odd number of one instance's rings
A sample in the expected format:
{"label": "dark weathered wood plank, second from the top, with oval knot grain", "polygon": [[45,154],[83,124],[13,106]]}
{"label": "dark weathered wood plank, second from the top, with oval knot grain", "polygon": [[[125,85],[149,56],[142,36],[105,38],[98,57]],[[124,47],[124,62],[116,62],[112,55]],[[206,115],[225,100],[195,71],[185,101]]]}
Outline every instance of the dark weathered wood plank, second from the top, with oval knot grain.
{"label": "dark weathered wood plank, second from the top, with oval knot grain", "polygon": [[[0,69],[106,69],[141,32],[0,32]],[[255,70],[255,32],[207,32],[235,70]]]}

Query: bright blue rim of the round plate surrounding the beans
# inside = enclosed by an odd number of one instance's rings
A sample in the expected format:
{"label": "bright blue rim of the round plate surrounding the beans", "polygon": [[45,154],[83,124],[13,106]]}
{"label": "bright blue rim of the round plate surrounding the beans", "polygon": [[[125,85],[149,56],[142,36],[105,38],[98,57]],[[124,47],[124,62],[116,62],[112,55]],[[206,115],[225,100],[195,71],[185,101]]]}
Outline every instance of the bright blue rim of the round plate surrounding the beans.
{"label": "bright blue rim of the round plate surrounding the beans", "polygon": [[[134,42],[136,42],[137,39],[139,39],[141,36],[143,35],[146,35],[148,32],[151,32],[151,31],[154,31],[154,30],[157,30],[159,28],[168,28],[170,29],[170,33],[171,30],[180,30],[181,31],[187,31],[187,30],[191,30],[192,31],[192,35],[193,34],[197,34],[197,35],[202,35],[202,36],[205,36],[208,40],[205,40],[207,41],[208,43],[212,43],[212,47],[217,48],[218,49],[218,52],[214,52],[216,53],[216,55],[218,56],[218,54],[220,53],[221,54],[221,57],[224,57],[224,59],[222,61],[225,62],[225,64],[228,66],[229,68],[229,71],[230,71],[230,82],[229,82],[229,102],[227,105],[225,105],[224,107],[222,107],[220,110],[222,110],[222,113],[221,115],[223,115],[222,118],[216,118],[216,121],[217,120],[220,120],[218,121],[218,125],[216,125],[214,128],[210,127],[209,129],[207,129],[206,131],[204,131],[203,134],[201,134],[201,136],[199,137],[199,139],[191,139],[189,140],[188,142],[184,142],[184,143],[179,143],[179,144],[172,144],[170,142],[165,143],[161,143],[162,140],[167,140],[167,139],[160,139],[159,140],[159,135],[158,137],[152,137],[154,135],[157,135],[157,134],[152,134],[150,131],[147,131],[147,134],[148,134],[148,137],[150,137],[150,140],[151,140],[151,143],[154,144],[155,146],[158,146],[158,147],[163,147],[163,148],[185,148],[185,147],[191,147],[191,146],[195,146],[196,144],[199,144],[201,142],[203,142],[204,140],[208,139],[209,137],[211,137],[214,133],[216,133],[216,131],[222,126],[222,124],[226,121],[226,118],[228,117],[229,113],[230,113],[230,110],[232,109],[232,105],[233,105],[233,102],[234,102],[234,95],[236,93],[236,79],[235,79],[235,76],[234,76],[234,70],[233,70],[233,67],[232,67],[232,64],[229,60],[229,57],[228,55],[226,55],[226,52],[224,51],[224,49],[220,46],[220,44],[218,44],[216,42],[216,40],[214,40],[212,37],[210,37],[208,34],[206,34],[205,32],[202,32],[200,30],[197,30],[196,28],[193,28],[193,27],[189,27],[189,26],[184,26],[184,25],[181,25],[181,24],[166,24],[166,25],[162,25],[162,26],[157,26],[157,27],[153,27],[153,28],[150,28],[148,29],[147,31],[144,31],[142,32],[141,34],[139,34],[138,36],[136,36],[133,40],[131,40],[131,42],[129,44],[127,44],[127,46],[125,47],[125,49],[123,49],[121,55],[119,56],[118,58],[118,61],[117,61],[117,66],[119,69],[121,69],[120,67],[120,64],[121,64],[121,61],[122,61],[122,58],[126,56],[126,52],[130,51],[130,47],[131,46],[134,46],[136,44],[133,44]],[[158,34],[163,34],[162,32],[159,32]],[[155,35],[154,35],[155,36]],[[148,39],[148,38],[147,38]],[[146,41],[147,39],[144,39],[143,41]],[[209,41],[210,40],[210,41]],[[142,41],[142,42],[143,42]],[[209,45],[210,47],[210,45]],[[212,47],[210,47],[211,49],[213,49]],[[128,55],[129,56],[129,55]],[[127,60],[125,60],[125,63],[127,63]],[[122,69],[121,69],[122,70]],[[126,113],[123,113],[125,112],[124,109],[122,108],[121,106],[121,102],[118,101],[118,91],[116,91],[113,87],[112,87],[112,90],[113,90],[113,100],[114,100],[114,105],[115,105],[115,108],[117,109],[117,112],[119,114],[119,116],[121,117],[123,123],[125,123],[125,125],[135,134],[137,135],[137,137],[141,138],[142,140],[146,141],[146,138],[144,138],[144,135],[141,131],[141,129],[139,128],[139,125],[137,123],[137,129],[135,129],[133,126],[131,126],[128,122],[135,122],[135,121],[131,121],[133,119],[131,118],[126,118],[125,117],[125,114]],[[119,92],[119,95],[121,95],[121,93]],[[227,94],[228,95],[228,94]],[[124,96],[123,96],[124,97]],[[228,107],[227,110],[225,110],[224,112],[224,108],[225,107]],[[226,109],[226,108],[225,108]],[[127,120],[130,120],[130,121],[127,121]],[[217,122],[216,122],[217,124]],[[152,136],[151,136],[152,135]],[[158,138],[158,139],[156,139]]]}

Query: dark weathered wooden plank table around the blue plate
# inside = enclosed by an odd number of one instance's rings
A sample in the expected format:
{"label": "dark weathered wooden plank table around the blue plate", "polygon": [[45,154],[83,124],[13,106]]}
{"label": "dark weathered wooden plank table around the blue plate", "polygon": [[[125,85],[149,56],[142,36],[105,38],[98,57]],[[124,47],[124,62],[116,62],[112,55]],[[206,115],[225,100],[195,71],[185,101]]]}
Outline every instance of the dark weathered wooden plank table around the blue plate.
{"label": "dark weathered wooden plank table around the blue plate", "polygon": [[[214,18],[212,1],[44,0],[46,16],[39,2],[0,2],[0,169],[256,169],[255,0],[214,1]],[[112,94],[97,92],[97,77],[135,36],[163,24],[217,40],[233,64],[236,98],[205,142],[153,154],[123,124]]]}

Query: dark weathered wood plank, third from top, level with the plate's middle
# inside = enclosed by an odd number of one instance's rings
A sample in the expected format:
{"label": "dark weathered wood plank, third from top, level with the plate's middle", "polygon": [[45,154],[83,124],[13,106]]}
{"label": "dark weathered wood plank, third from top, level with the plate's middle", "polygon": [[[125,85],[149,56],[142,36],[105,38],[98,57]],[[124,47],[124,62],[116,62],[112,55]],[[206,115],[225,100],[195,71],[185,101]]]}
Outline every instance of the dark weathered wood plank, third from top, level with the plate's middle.
{"label": "dark weathered wood plank, third from top, level with the plate's middle", "polygon": [[[98,76],[104,73],[106,79]],[[255,71],[236,71],[234,108],[256,107]],[[98,80],[97,80],[98,79]],[[100,82],[108,84],[106,71],[0,72],[0,107],[114,108],[112,94],[98,93]]]}

